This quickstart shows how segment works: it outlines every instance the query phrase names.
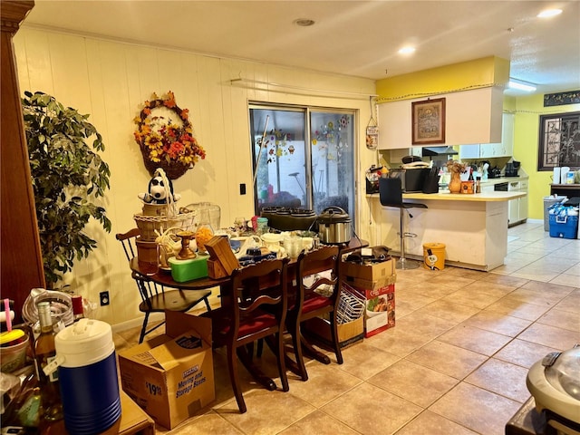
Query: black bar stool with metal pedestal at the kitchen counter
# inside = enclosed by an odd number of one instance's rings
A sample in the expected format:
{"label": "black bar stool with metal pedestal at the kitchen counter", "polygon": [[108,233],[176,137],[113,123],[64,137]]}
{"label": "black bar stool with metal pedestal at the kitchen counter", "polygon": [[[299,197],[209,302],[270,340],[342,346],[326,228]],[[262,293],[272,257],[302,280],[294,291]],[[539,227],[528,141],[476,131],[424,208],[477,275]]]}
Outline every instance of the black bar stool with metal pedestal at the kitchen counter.
{"label": "black bar stool with metal pedestal at the kitchen counter", "polygon": [[401,210],[400,230],[401,235],[401,257],[397,261],[397,269],[416,269],[419,267],[419,262],[409,260],[405,256],[405,237],[417,237],[414,233],[404,231],[404,215],[403,210],[407,210],[409,218],[413,216],[409,212],[409,208],[427,208],[425,204],[415,202],[404,202],[402,200],[402,188],[400,178],[379,179],[379,199],[381,205],[385,207],[394,207]]}

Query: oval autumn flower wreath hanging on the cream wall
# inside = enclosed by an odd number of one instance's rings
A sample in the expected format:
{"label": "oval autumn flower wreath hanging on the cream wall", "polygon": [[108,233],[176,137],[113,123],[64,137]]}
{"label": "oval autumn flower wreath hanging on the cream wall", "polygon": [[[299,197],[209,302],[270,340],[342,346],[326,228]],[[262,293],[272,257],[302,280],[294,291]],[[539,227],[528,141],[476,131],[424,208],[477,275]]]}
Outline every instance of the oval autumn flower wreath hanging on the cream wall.
{"label": "oval autumn flower wreath hanging on the cream wall", "polygon": [[135,140],[151,176],[162,168],[169,179],[179,179],[199,159],[206,158],[206,151],[194,137],[188,109],[179,108],[171,91],[162,97],[153,93],[135,123]]}

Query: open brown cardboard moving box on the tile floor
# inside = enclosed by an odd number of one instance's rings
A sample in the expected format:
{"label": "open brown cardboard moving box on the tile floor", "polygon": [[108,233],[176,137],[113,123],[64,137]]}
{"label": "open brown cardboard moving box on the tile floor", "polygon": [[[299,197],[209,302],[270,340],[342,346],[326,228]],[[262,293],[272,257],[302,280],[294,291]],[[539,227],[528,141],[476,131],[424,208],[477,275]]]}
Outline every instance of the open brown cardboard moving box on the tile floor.
{"label": "open brown cardboard moving box on the tile floor", "polygon": [[119,353],[121,386],[161,426],[173,429],[216,397],[211,320],[165,312],[166,333]]}

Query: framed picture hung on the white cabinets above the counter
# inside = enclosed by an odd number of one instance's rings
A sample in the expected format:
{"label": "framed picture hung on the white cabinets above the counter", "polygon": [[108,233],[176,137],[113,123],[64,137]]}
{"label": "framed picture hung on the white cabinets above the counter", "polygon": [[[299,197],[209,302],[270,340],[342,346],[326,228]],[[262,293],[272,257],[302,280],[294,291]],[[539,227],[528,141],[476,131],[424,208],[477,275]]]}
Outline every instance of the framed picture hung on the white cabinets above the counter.
{"label": "framed picture hung on the white cabinets above the counter", "polygon": [[445,99],[412,102],[412,144],[445,143]]}

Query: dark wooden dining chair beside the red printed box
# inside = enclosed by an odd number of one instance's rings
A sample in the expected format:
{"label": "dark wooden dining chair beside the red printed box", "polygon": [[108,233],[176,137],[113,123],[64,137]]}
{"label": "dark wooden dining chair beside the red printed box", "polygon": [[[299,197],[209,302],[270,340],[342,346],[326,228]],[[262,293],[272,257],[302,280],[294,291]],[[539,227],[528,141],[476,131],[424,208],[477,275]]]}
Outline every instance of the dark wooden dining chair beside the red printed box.
{"label": "dark wooden dining chair beside the red printed box", "polygon": [[[308,380],[304,353],[320,362],[330,363],[330,359],[316,351],[301,333],[300,325],[309,319],[317,316],[327,317],[336,362],[343,363],[337,328],[338,304],[342,291],[340,267],[340,250],[337,246],[325,246],[303,252],[296,260],[296,285],[295,291],[288,291],[290,297],[286,327],[292,335],[295,369],[303,381]],[[292,295],[295,295],[294,300]]]}

